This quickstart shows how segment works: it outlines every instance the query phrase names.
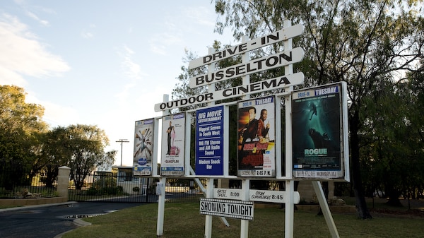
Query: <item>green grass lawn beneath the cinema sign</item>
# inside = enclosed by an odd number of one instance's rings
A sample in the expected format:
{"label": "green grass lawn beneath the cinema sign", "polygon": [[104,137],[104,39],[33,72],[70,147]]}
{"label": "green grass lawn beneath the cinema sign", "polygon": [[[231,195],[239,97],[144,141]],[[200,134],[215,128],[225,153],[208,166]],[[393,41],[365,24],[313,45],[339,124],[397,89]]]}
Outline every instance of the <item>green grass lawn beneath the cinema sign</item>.
{"label": "green grass lawn beneath the cinema sign", "polygon": [[[64,234],[64,238],[83,237],[156,237],[158,204],[146,204],[119,210],[94,218],[84,218],[92,225],[79,227]],[[254,220],[249,222],[249,237],[284,237],[283,209],[255,208]],[[340,237],[424,237],[424,218],[375,215],[360,220],[354,213],[333,214]],[[213,217],[212,237],[240,237],[240,220],[229,219],[225,227]],[[166,203],[164,238],[204,237],[205,215],[199,214],[199,203]],[[324,217],[316,213],[295,211],[294,237],[331,237]]]}

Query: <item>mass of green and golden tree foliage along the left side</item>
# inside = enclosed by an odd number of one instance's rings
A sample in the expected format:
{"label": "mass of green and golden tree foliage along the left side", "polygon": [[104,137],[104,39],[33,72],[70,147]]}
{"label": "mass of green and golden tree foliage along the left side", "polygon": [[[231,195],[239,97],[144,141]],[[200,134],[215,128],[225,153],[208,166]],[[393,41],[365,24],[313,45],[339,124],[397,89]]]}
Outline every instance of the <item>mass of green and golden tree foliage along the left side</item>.
{"label": "mass of green and golden tree foliage along the left side", "polygon": [[0,86],[0,187],[30,185],[36,174],[43,173],[42,182],[52,188],[58,168],[66,165],[81,189],[93,169],[113,164],[116,151],[104,152],[105,131],[88,125],[50,131],[43,114],[42,106],[25,102],[23,88]]}

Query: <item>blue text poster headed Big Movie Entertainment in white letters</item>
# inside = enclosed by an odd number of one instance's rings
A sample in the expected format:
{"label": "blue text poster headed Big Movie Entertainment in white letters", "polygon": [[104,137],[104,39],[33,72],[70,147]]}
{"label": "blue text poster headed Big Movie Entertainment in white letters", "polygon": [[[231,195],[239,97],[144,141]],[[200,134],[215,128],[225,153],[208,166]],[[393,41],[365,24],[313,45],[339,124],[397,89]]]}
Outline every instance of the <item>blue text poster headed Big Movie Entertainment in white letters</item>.
{"label": "blue text poster headed Big Movie Entertainment in white letters", "polygon": [[224,175],[224,107],[196,111],[196,174]]}

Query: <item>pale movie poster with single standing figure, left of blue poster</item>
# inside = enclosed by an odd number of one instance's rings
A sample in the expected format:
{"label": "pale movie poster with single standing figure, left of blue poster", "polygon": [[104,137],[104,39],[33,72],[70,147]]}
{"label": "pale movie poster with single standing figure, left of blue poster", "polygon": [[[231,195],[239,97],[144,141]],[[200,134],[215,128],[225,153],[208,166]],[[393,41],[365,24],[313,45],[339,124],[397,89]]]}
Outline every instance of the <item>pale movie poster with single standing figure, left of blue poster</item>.
{"label": "pale movie poster with single standing figure, left of blue poster", "polygon": [[184,174],[185,113],[162,118],[162,160],[160,175]]}

